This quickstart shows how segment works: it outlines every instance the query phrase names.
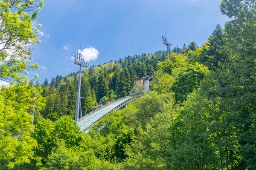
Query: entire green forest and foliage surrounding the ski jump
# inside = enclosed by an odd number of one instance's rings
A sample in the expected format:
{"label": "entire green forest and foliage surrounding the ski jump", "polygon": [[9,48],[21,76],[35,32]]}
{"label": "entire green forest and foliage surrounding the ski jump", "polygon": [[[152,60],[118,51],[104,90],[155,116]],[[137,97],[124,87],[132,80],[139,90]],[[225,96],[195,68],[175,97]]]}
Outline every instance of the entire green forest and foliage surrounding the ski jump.
{"label": "entire green forest and foliage surrounding the ski jump", "polygon": [[[78,73],[29,79],[40,43],[41,0],[0,1],[0,169],[255,170],[256,1],[221,0],[230,21],[206,43],[128,56],[82,72],[82,113],[128,95],[154,74],[151,90],[81,132],[74,121]],[[35,105],[35,119],[32,109]],[[102,127],[104,127],[102,129]]]}

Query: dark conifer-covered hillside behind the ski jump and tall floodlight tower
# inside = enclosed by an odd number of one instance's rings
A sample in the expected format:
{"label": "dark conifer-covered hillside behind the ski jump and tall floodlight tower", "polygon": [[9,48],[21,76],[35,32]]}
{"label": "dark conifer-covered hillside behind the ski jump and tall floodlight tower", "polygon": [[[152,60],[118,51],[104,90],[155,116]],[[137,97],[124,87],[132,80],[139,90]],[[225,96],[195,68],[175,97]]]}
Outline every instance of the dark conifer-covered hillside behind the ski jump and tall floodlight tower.
{"label": "dark conifer-covered hillside behind the ski jump and tall floodlight tower", "polygon": [[[166,52],[158,51],[153,54],[128,56],[119,61],[109,61],[99,66],[84,69],[81,79],[81,107],[83,115],[92,111],[93,105],[104,101],[117,99],[129,95],[134,86],[134,80],[145,75],[154,74],[157,62],[166,59]],[[62,115],[75,116],[78,73],[71,73],[62,77],[57,75],[51,82],[46,79],[42,88],[42,97],[46,101],[43,110],[37,117],[53,121]],[[44,103],[44,102],[43,102]],[[35,120],[36,121],[36,120]]]}

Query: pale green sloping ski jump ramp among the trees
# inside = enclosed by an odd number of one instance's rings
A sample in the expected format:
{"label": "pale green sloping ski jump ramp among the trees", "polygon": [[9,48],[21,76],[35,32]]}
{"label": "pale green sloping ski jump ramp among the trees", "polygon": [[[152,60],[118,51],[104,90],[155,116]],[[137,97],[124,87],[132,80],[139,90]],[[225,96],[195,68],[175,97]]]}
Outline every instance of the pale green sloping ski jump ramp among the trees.
{"label": "pale green sloping ski jump ramp among the trees", "polygon": [[102,107],[99,107],[98,109],[88,113],[82,118],[79,118],[78,125],[81,131],[88,130],[91,126],[93,126],[93,124],[99,121],[100,118],[104,117],[112,110],[116,111],[117,109],[120,109],[126,106],[128,103],[130,103],[133,100],[134,100],[133,96],[126,96],[123,98],[119,98],[118,100],[113,101],[109,104],[106,104]]}

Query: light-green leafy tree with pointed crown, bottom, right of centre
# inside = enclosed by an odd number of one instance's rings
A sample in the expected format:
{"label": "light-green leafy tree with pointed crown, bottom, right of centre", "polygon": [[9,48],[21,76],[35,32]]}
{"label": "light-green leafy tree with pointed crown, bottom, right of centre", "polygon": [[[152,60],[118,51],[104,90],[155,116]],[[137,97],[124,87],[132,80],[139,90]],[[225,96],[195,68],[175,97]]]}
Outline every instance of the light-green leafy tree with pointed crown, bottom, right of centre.
{"label": "light-green leafy tree with pointed crown, bottom, right of centre", "polygon": [[149,120],[145,130],[139,128],[131,146],[127,146],[124,169],[178,169],[182,162],[172,160],[181,149],[176,147],[177,134],[172,127],[177,116],[173,104],[173,101],[164,104],[162,112]]}

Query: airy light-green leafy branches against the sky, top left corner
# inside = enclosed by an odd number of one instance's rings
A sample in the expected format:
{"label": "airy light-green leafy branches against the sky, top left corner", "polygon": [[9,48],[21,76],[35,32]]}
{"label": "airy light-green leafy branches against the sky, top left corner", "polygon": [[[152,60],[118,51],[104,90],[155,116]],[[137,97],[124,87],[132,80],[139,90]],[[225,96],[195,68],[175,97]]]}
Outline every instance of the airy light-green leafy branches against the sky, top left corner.
{"label": "airy light-green leafy branches against the sky, top left corner", "polygon": [[40,43],[35,34],[38,28],[32,24],[43,6],[44,0],[0,2],[1,78],[21,80],[27,70],[39,68],[38,64],[29,64],[32,50],[27,45]]}

